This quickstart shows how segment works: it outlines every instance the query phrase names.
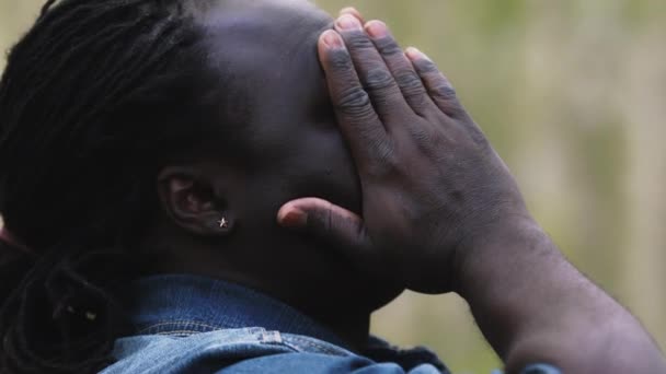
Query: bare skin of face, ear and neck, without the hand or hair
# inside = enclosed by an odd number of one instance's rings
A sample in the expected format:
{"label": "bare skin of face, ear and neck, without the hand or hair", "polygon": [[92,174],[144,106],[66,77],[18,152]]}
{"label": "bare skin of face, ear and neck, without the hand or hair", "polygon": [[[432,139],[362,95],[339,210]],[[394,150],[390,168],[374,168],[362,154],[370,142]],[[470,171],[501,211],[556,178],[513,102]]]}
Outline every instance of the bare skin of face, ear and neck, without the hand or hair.
{"label": "bare skin of face, ear and neck, without the hand or hair", "polygon": [[[211,74],[223,82],[209,96],[233,101],[210,117],[231,139],[161,171],[163,209],[143,243],[160,255],[149,271],[248,285],[360,347],[370,313],[404,287],[378,283],[326,242],[275,220],[284,202],[302,196],[360,212],[358,177],[317,54],[333,19],[305,2],[267,1],[257,12],[248,2],[226,1],[199,22],[215,56]],[[220,227],[222,217],[227,227]]]}

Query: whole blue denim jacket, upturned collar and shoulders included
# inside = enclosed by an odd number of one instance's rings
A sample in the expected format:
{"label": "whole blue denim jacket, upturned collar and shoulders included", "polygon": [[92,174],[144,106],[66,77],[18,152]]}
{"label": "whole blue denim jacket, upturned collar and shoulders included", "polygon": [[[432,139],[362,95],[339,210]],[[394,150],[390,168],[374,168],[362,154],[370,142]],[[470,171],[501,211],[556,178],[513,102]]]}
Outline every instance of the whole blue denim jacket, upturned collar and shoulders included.
{"label": "whole blue denim jacket, upturned collar and shoulders included", "polygon": [[193,276],[137,281],[104,374],[135,373],[448,373],[425,348],[400,350],[370,338],[353,352],[290,306],[237,284]]}

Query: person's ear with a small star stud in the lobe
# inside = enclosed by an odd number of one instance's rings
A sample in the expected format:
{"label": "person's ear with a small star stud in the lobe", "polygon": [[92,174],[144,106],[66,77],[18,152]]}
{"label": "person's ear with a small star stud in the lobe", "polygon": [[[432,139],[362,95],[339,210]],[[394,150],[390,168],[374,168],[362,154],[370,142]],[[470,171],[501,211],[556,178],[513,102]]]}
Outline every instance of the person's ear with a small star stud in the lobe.
{"label": "person's ear with a small star stud in the lobe", "polygon": [[185,231],[200,236],[226,236],[233,229],[227,201],[213,177],[195,166],[166,166],[158,175],[158,195],[164,211]]}

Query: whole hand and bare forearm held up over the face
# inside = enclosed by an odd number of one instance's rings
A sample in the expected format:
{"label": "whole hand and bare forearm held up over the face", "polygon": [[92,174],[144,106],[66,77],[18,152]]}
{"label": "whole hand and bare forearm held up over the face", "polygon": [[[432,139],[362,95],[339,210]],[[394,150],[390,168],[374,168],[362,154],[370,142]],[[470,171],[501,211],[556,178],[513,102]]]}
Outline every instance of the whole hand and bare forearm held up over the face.
{"label": "whole hand and bare forearm held up over the face", "polygon": [[[326,239],[374,279],[455,289],[509,371],[546,362],[569,373],[661,372],[640,324],[538,226],[483,231],[497,214],[487,207],[526,213],[508,168],[433,60],[414,48],[397,54],[386,24],[358,19],[343,14],[324,32],[319,56],[358,166],[363,218],[305,198],[283,206],[278,221]],[[473,243],[461,246],[466,238]]]}

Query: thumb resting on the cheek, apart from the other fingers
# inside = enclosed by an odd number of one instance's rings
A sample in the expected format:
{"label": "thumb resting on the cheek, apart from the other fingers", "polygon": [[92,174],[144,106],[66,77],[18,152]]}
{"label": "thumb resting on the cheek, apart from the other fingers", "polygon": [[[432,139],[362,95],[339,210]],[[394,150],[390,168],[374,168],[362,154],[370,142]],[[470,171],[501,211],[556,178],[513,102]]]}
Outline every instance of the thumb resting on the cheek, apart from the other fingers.
{"label": "thumb resting on the cheek, apart from the other fingers", "polygon": [[291,200],[277,212],[277,223],[283,227],[303,231],[323,239],[352,258],[367,254],[371,247],[370,237],[360,217],[326,200]]}

